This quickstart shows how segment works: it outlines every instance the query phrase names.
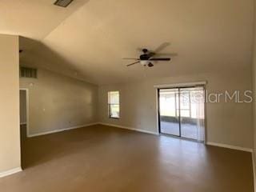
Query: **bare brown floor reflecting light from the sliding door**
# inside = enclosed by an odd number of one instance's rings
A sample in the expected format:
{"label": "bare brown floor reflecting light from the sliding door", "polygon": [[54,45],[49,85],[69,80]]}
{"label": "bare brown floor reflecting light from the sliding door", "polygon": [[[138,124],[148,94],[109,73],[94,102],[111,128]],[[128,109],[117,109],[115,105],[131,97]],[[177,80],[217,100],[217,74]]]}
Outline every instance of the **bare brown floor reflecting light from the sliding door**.
{"label": "bare brown floor reflecting light from the sliding door", "polygon": [[251,154],[110,126],[25,138],[5,192],[252,192]]}

